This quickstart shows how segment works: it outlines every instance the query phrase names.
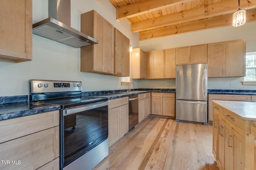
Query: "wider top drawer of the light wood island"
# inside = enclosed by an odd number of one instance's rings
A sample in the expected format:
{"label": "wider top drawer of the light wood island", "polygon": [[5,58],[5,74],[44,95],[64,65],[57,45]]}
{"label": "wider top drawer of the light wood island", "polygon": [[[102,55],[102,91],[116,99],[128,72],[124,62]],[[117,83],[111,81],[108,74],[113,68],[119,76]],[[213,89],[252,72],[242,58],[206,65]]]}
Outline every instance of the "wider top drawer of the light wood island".
{"label": "wider top drawer of the light wood island", "polygon": [[[237,127],[239,127],[240,129],[242,129],[243,131],[245,130],[245,121],[240,119],[239,117],[237,117],[235,114],[224,110],[224,116],[225,116],[225,121],[230,121],[232,123],[234,123]],[[239,129],[236,129],[236,127],[233,127],[235,130],[237,130],[238,132]]]}

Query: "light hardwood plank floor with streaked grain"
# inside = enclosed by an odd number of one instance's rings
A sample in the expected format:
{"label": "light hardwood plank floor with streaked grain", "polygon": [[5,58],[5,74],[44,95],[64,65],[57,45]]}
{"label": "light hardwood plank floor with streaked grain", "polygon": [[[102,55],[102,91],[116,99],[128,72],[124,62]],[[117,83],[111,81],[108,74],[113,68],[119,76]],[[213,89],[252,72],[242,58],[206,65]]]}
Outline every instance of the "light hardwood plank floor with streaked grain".
{"label": "light hardwood plank floor with streaked grain", "polygon": [[94,170],[218,170],[212,125],[147,117]]}

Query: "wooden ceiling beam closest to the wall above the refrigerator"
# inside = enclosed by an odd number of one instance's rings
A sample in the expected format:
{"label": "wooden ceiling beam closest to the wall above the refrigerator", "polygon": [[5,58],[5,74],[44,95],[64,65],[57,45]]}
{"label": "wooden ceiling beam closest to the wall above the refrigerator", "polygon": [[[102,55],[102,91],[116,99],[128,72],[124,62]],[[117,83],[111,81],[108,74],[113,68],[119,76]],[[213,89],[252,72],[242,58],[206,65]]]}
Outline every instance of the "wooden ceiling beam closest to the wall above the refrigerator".
{"label": "wooden ceiling beam closest to the wall above the refrigerator", "polygon": [[[165,37],[180,33],[188,33],[192,31],[200,31],[204,29],[212,29],[232,25],[233,13],[221,17],[214,17],[206,20],[200,20],[172,27],[156,29],[152,31],[144,31],[139,33],[139,40]],[[246,11],[246,23],[256,21],[256,9]],[[245,24],[246,24],[245,23]]]}

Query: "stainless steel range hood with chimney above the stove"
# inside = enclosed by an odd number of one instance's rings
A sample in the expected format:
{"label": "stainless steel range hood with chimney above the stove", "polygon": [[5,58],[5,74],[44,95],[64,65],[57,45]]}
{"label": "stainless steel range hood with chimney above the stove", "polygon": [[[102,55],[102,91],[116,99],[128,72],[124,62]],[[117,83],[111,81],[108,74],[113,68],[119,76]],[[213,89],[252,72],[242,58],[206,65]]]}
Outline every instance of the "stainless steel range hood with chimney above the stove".
{"label": "stainless steel range hood with chimney above the stove", "polygon": [[49,18],[33,24],[33,33],[74,48],[98,44],[98,40],[70,27],[70,0],[48,0]]}

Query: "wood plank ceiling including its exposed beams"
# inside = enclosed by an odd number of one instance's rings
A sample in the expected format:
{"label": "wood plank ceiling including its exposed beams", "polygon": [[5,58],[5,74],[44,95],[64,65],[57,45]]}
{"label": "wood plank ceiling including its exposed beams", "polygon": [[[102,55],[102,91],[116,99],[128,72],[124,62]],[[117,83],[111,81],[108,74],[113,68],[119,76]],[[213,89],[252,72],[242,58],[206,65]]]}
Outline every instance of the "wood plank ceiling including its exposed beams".
{"label": "wood plank ceiling including its exposed beams", "polygon": [[[232,25],[238,0],[109,0],[139,40]],[[240,0],[246,23],[256,21],[256,0]],[[245,24],[246,24],[245,23]]]}

